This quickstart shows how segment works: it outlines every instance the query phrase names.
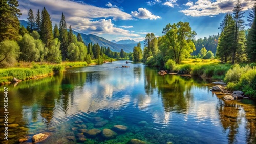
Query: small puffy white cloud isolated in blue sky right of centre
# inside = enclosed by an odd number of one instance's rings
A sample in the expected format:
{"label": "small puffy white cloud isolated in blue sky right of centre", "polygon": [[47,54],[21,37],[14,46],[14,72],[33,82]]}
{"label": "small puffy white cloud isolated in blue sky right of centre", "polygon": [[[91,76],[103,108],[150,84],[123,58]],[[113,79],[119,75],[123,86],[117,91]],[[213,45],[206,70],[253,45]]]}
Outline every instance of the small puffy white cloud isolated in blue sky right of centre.
{"label": "small puffy white cloud isolated in blue sky right of centre", "polygon": [[161,18],[160,16],[157,16],[157,15],[152,14],[150,11],[148,11],[148,10],[145,9],[145,8],[139,8],[139,9],[138,9],[138,12],[137,12],[137,11],[134,11],[134,12],[131,12],[131,14],[132,14],[134,17],[139,18],[139,19],[156,20],[156,19],[158,19],[158,18]]}

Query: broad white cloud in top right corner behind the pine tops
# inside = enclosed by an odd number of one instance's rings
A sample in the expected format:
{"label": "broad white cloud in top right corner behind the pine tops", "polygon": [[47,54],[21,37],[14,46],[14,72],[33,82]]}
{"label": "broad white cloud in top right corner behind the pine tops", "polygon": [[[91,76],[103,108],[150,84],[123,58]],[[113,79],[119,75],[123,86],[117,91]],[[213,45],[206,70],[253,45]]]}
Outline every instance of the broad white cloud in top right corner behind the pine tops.
{"label": "broad white cloud in top right corner behind the pine tops", "polygon": [[[198,0],[197,2],[188,2],[185,5],[189,8],[181,10],[187,16],[210,16],[218,15],[220,13],[230,13],[233,11],[234,4],[237,0],[216,0],[214,2],[210,0]],[[255,3],[254,0],[241,0],[243,10],[248,10]]]}

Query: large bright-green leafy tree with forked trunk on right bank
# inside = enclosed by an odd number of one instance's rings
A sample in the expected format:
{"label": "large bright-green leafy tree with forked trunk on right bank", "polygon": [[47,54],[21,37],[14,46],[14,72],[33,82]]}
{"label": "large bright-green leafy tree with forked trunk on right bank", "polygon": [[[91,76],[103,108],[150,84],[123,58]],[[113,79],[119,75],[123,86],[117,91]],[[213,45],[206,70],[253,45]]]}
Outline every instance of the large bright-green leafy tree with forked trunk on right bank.
{"label": "large bright-green leafy tree with forked trunk on right bank", "polygon": [[[169,27],[167,32],[166,27]],[[166,27],[162,32],[166,32],[166,34],[161,38],[159,47],[164,55],[164,63],[168,59],[180,63],[195,50],[195,45],[191,39],[194,38],[196,32],[191,30],[188,22],[178,22]]]}

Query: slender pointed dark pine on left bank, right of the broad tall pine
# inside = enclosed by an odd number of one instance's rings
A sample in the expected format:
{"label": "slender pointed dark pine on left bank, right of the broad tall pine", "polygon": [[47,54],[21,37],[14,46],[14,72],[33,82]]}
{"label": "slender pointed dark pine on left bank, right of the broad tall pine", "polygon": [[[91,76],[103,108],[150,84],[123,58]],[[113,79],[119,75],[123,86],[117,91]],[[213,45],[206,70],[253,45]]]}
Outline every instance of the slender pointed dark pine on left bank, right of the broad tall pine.
{"label": "slender pointed dark pine on left bank, right of the broad tall pine", "polygon": [[67,58],[69,45],[68,45],[67,23],[63,13],[59,22],[59,40],[61,41],[60,50],[61,50],[62,59],[65,60]]}

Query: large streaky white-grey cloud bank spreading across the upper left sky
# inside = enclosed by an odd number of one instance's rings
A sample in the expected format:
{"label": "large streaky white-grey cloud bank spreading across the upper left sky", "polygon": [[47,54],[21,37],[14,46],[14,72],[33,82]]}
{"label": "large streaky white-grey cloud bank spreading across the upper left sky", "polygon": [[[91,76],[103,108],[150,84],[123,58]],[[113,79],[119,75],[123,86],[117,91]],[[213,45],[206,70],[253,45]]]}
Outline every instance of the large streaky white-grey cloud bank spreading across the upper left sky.
{"label": "large streaky white-grey cloud bank spreading across the upper left sky", "polygon": [[[132,15],[118,8],[100,8],[84,3],[63,0],[30,0],[19,1],[22,10],[22,18],[27,19],[28,10],[31,8],[34,14],[39,9],[46,7],[51,15],[53,25],[59,23],[61,14],[64,12],[67,25],[80,33],[91,34],[114,34],[123,36],[140,36],[128,30],[117,28],[112,20],[132,20]],[[112,18],[112,19],[111,19]],[[97,20],[94,20],[97,19]]]}

